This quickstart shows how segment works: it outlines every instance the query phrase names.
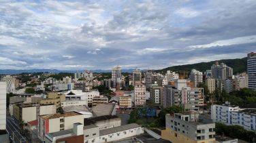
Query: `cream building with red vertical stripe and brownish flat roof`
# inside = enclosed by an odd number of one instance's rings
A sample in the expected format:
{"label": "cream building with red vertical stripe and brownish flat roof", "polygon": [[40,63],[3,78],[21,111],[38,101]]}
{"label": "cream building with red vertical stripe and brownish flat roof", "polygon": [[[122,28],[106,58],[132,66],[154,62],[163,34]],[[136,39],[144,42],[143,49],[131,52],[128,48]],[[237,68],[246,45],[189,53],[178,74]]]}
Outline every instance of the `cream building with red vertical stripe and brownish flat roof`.
{"label": "cream building with red vertical stripe and brownish flat roof", "polygon": [[38,117],[38,138],[44,142],[46,133],[72,129],[74,123],[83,125],[84,115],[75,112],[41,115]]}

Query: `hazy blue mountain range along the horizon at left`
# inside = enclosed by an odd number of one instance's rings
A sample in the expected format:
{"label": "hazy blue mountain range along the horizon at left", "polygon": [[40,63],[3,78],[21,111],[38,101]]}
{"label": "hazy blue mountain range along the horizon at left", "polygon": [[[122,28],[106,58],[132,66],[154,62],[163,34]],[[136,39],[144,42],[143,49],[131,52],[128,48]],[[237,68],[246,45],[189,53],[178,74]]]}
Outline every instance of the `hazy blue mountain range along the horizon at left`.
{"label": "hazy blue mountain range along the horizon at left", "polygon": [[[122,69],[122,73],[133,73],[135,69]],[[32,69],[32,70],[0,70],[0,75],[8,75],[8,74],[18,74],[18,73],[38,73],[38,72],[48,72],[48,73],[83,73],[85,70],[56,70],[56,69]],[[111,73],[111,70],[90,70],[93,73]],[[142,70],[146,71],[146,70]]]}

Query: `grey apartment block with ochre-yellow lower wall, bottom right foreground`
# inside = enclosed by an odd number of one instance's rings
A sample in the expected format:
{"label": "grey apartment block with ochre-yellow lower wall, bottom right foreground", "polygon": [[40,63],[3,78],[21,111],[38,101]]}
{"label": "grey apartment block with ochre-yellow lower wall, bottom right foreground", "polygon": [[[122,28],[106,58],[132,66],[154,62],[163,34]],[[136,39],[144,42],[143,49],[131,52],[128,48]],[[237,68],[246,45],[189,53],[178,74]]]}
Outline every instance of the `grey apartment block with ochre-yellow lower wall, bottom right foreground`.
{"label": "grey apartment block with ochre-yellow lower wall, bottom right foreground", "polygon": [[170,142],[213,143],[215,123],[199,117],[198,113],[176,113],[165,115],[166,129],[162,130],[161,138]]}

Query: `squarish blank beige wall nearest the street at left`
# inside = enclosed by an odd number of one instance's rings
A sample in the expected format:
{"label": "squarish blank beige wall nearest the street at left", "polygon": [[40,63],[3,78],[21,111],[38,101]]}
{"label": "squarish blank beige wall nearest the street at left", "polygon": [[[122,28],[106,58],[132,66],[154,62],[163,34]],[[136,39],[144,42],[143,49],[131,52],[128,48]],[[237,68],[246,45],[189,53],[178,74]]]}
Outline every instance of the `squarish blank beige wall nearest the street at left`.
{"label": "squarish blank beige wall nearest the street at left", "polygon": [[34,121],[35,119],[37,119],[36,110],[36,107],[22,108],[22,120],[27,123],[29,121]]}

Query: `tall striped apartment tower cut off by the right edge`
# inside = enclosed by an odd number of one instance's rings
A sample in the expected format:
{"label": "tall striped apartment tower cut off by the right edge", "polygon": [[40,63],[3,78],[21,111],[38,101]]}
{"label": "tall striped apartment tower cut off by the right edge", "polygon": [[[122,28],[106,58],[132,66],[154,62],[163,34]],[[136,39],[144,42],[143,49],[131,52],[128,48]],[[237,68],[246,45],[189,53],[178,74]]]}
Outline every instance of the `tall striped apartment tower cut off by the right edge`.
{"label": "tall striped apartment tower cut off by the right edge", "polygon": [[256,91],[256,53],[247,54],[248,87]]}

